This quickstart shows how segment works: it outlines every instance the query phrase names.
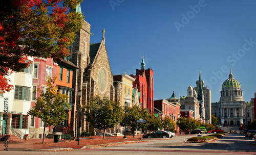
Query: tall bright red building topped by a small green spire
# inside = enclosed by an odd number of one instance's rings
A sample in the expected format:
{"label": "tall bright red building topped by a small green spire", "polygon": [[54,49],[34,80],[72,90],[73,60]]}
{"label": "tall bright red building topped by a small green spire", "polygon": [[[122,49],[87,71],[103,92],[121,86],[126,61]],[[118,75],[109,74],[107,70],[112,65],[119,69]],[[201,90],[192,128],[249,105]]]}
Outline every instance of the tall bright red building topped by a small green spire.
{"label": "tall bright red building topped by a small green spire", "polygon": [[148,112],[154,113],[154,71],[150,68],[145,70],[144,56],[141,63],[141,69],[136,69],[136,75],[130,75],[135,78],[133,88],[137,87],[140,92],[140,104],[142,108],[147,108]]}

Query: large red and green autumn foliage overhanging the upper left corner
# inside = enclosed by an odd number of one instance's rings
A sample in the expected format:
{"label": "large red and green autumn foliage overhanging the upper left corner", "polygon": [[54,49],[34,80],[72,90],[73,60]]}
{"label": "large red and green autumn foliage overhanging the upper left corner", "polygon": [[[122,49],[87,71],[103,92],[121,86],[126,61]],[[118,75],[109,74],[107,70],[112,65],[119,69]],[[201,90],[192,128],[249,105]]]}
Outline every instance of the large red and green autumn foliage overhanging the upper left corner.
{"label": "large red and green autumn foliage overhanging the upper left corner", "polygon": [[[81,28],[82,0],[10,0],[0,3],[0,89],[12,89],[8,75],[22,71],[27,57],[62,58]],[[0,92],[1,93],[1,92]]]}

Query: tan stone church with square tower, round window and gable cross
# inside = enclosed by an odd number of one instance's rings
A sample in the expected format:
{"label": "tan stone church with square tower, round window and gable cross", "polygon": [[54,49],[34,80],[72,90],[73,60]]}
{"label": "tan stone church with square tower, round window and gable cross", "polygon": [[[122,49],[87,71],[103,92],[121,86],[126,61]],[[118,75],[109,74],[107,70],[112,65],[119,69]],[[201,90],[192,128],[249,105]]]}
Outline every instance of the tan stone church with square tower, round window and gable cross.
{"label": "tan stone church with square tower, round window and gable cross", "polygon": [[[78,5],[76,10],[81,13]],[[115,89],[113,76],[110,68],[109,58],[105,46],[105,31],[102,31],[102,39],[99,43],[90,43],[91,25],[83,20],[82,28],[76,35],[74,43],[69,46],[71,55],[69,60],[79,69],[73,72],[71,134],[77,134],[77,112],[79,107],[86,105],[93,96],[108,97],[114,100]],[[78,96],[79,89],[82,90],[81,97]],[[80,131],[89,131],[90,124],[84,119],[80,120]],[[91,127],[91,130],[93,128]],[[93,131],[91,131],[93,132]]]}

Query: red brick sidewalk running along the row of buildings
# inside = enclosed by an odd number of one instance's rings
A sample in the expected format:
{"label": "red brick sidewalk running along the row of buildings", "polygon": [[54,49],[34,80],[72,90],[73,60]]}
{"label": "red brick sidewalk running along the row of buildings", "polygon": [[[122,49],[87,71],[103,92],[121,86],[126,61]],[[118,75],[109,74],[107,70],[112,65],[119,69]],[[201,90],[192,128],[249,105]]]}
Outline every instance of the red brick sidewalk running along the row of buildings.
{"label": "red brick sidewalk running along the row of buildings", "polygon": [[[140,140],[140,136],[126,136],[127,139],[123,137],[105,137],[102,136],[91,136],[81,138],[81,141],[78,144],[78,141],[66,141],[53,143],[53,139],[45,139],[45,143],[42,144],[42,139],[29,139],[29,140],[20,140],[20,141],[9,141],[8,150],[10,151],[19,151],[25,149],[52,149],[52,148],[82,148],[83,146],[89,145],[99,145],[99,144],[111,144],[117,142],[126,142],[126,141],[147,141],[148,139]],[[0,141],[0,150],[5,149],[5,142]]]}

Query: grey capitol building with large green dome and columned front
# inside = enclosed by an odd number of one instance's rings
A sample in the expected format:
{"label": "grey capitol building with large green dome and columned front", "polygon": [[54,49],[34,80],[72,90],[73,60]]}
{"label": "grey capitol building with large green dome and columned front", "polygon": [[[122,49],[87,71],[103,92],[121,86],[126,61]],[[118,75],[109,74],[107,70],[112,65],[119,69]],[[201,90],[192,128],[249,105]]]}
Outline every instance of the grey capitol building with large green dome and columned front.
{"label": "grey capitol building with large green dome and columned front", "polygon": [[250,103],[243,98],[240,83],[232,71],[222,84],[220,101],[211,104],[211,113],[218,118],[218,125],[241,126],[250,122]]}

